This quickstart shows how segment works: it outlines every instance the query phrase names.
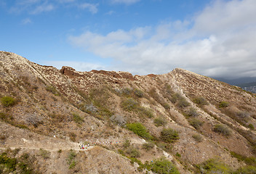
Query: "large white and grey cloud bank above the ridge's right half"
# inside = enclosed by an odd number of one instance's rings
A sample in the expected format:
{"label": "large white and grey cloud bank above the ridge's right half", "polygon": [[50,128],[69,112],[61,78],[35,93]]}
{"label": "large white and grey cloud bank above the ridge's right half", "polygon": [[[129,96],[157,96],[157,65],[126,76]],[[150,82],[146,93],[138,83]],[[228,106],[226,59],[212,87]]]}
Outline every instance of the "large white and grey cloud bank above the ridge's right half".
{"label": "large white and grey cloud bank above the ridge's right half", "polygon": [[115,59],[113,70],[164,73],[175,67],[210,76],[256,75],[255,0],[215,1],[192,21],[116,30],[87,31],[69,41],[100,57]]}

